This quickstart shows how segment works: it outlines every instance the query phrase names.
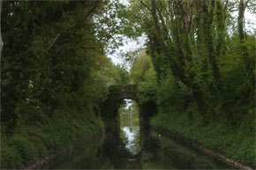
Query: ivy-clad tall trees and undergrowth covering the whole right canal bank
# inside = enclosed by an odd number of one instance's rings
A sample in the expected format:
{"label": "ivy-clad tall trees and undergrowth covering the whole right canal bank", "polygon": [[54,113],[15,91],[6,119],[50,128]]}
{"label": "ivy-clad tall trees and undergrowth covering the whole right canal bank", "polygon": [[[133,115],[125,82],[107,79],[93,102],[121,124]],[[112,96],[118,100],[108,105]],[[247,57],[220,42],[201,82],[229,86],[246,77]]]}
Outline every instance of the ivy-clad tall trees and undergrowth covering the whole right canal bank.
{"label": "ivy-clad tall trees and undergrowth covering the whole right canal bank", "polygon": [[131,74],[140,101],[157,105],[151,124],[255,166],[256,46],[244,25],[245,7],[255,13],[250,3],[140,0],[127,12],[133,30],[147,36]]}

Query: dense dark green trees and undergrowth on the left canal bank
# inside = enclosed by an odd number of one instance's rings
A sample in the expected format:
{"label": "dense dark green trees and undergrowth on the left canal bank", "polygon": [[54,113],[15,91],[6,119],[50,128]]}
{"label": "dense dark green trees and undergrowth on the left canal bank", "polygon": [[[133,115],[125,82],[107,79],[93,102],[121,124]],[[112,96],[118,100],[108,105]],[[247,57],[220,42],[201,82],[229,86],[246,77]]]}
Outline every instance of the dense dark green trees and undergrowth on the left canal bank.
{"label": "dense dark green trees and undergrowth on the left canal bank", "polygon": [[112,5],[4,1],[2,168],[27,166],[102,131],[99,103],[121,81],[106,57],[115,24],[102,27]]}

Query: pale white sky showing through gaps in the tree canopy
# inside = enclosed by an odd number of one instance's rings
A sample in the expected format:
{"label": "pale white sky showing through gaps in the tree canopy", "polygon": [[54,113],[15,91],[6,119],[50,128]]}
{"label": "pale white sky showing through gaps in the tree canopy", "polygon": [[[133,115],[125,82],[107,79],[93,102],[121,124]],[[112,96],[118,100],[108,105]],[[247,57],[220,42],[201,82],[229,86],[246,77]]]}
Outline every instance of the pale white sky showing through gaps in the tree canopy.
{"label": "pale white sky showing through gaps in the tree canopy", "polygon": [[[123,4],[127,4],[128,0],[121,0]],[[234,13],[235,18],[237,18],[237,13]],[[254,32],[256,33],[256,15],[252,15],[249,11],[245,11],[245,23],[250,22],[251,24],[245,24],[245,29],[246,31]],[[138,48],[143,48],[145,47],[145,43],[147,41],[147,37],[144,35],[142,37],[139,37],[138,40],[132,40],[127,37],[124,37],[123,43],[124,46],[120,46],[117,48],[117,51],[113,55],[108,55],[108,57],[111,59],[112,63],[119,63],[122,64],[124,63],[124,59],[120,57],[120,52],[129,52],[129,51],[134,51]]]}

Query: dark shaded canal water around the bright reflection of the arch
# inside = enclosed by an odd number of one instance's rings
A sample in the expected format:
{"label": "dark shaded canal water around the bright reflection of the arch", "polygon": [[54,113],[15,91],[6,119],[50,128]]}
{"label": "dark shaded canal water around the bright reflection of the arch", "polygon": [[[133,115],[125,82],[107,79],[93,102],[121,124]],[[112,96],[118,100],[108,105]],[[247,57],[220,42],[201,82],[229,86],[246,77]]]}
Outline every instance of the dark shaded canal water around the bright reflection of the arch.
{"label": "dark shaded canal water around the bright reflection of the arch", "polygon": [[[128,131],[129,131],[129,127]],[[136,131],[133,129],[133,132]],[[119,132],[110,131],[102,141],[91,141],[73,152],[66,161],[47,169],[223,169],[230,168],[209,159],[168,137],[149,129],[138,129],[141,150],[132,154],[125,148]],[[136,138],[135,137],[135,138]],[[104,141],[103,141],[104,139]],[[137,139],[135,139],[137,140]],[[56,164],[58,162],[54,161]]]}

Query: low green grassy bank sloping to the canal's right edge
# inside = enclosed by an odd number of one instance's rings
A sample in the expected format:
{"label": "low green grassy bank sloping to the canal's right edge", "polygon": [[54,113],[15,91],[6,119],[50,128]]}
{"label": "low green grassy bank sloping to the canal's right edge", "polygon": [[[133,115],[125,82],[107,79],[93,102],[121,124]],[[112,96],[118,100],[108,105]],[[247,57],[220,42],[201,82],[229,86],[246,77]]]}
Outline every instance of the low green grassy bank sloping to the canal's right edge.
{"label": "low green grassy bank sloping to the canal's right edge", "polygon": [[184,114],[165,113],[153,117],[154,127],[167,129],[191,139],[209,149],[221,152],[247,166],[255,167],[255,133],[241,126],[231,126],[227,122],[202,123],[200,115],[192,120]]}

